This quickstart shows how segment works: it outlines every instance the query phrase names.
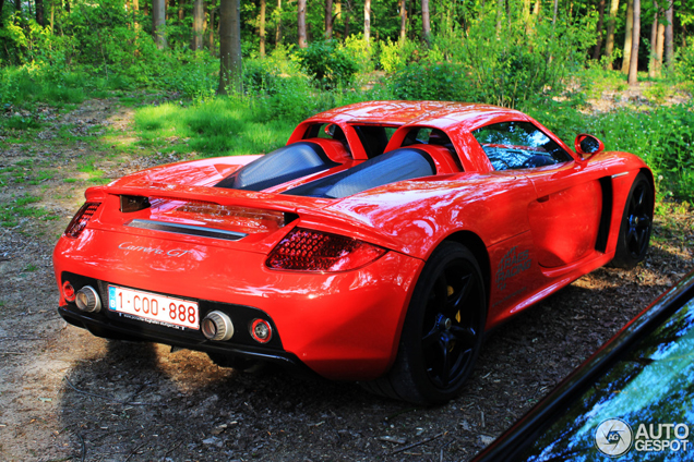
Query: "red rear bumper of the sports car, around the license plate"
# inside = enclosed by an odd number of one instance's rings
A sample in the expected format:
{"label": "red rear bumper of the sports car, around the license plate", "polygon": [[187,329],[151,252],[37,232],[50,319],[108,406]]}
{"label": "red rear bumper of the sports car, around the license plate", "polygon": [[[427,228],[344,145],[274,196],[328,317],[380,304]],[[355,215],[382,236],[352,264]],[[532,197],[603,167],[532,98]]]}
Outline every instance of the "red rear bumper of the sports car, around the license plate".
{"label": "red rear bumper of the sports car, around the license plate", "polygon": [[[59,285],[65,278],[71,278],[75,290],[96,284],[103,299],[108,296],[105,287],[109,283],[188,297],[199,302],[200,318],[222,309],[241,332],[248,320],[260,317],[271,323],[274,337],[267,344],[260,344],[246,331],[226,342],[210,341],[200,330],[127,319],[109,309],[84,313],[61,297],[59,312],[70,324],[100,337],[306,366],[330,379],[369,380],[388,370],[423,266],[420,259],[388,252],[352,271],[276,271],[265,267],[262,253],[188,247],[182,242],[154,239],[136,243],[165,253],[169,247],[187,251],[184,256],[164,258],[123,250],[123,238],[115,233],[87,230],[84,235],[89,239],[62,238],[56,246],[53,265]],[[129,236],[128,241],[134,239]],[[103,305],[108,306],[107,300]]]}

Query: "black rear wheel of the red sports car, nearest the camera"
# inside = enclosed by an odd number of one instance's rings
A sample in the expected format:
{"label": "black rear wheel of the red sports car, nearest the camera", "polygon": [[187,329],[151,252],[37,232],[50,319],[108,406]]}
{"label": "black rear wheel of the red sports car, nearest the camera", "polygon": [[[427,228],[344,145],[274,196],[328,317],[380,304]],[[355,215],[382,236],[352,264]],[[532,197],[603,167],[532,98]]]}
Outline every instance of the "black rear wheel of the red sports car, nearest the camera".
{"label": "black rear wheel of the red sports car, nearest the camera", "polygon": [[417,281],[395,364],[363,388],[415,404],[448,401],[472,372],[486,320],[479,265],[465,246],[444,242]]}

